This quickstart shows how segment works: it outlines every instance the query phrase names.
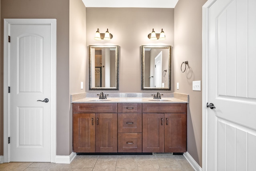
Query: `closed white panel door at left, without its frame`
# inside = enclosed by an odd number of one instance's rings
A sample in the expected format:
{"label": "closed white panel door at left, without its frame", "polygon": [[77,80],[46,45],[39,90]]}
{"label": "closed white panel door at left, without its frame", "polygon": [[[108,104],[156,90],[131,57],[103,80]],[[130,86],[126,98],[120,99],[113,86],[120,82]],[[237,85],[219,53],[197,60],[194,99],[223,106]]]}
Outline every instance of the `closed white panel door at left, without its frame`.
{"label": "closed white panel door at left, without its frame", "polygon": [[51,26],[10,26],[10,161],[51,161]]}

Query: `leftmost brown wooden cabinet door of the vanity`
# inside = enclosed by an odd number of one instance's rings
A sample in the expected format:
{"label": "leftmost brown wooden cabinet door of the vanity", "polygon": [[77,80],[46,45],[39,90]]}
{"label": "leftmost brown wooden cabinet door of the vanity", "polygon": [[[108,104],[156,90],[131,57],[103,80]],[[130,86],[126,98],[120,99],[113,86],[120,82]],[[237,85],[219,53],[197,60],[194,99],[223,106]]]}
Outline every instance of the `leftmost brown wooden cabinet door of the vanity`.
{"label": "leftmost brown wooden cabinet door of the vanity", "polygon": [[73,113],[73,151],[95,152],[95,113]]}

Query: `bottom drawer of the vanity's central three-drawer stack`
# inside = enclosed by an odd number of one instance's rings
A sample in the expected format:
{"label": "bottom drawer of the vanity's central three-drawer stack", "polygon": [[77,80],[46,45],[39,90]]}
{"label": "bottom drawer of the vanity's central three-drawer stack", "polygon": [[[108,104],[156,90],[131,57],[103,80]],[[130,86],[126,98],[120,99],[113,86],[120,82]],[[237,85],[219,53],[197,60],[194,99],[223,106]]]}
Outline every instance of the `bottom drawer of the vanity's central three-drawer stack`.
{"label": "bottom drawer of the vanity's central three-drawer stack", "polygon": [[118,152],[142,152],[142,133],[118,133]]}

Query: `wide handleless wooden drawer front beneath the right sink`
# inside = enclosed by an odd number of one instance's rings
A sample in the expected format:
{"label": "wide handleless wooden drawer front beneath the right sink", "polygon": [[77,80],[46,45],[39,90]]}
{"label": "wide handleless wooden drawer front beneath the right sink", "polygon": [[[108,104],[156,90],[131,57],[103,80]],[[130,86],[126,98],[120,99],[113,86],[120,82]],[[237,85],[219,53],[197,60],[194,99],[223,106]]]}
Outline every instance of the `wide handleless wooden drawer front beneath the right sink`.
{"label": "wide handleless wooden drawer front beneath the right sink", "polygon": [[143,113],[186,113],[186,103],[143,103]]}

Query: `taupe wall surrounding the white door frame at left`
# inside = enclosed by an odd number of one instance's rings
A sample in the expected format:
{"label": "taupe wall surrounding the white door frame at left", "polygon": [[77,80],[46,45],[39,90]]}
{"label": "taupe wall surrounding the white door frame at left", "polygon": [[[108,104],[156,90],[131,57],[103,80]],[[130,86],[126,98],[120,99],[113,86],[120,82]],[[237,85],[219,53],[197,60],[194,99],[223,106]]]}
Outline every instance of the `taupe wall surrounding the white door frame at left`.
{"label": "taupe wall surrounding the white door frame at left", "polygon": [[[57,155],[70,155],[69,96],[69,0],[1,0],[1,23],[4,18],[57,19]],[[3,25],[1,26],[1,38]],[[1,39],[1,49],[3,39]],[[1,51],[1,133],[3,117],[3,52]],[[68,126],[67,126],[68,125]],[[1,134],[0,139],[3,139]],[[1,143],[0,155],[3,155]]]}

